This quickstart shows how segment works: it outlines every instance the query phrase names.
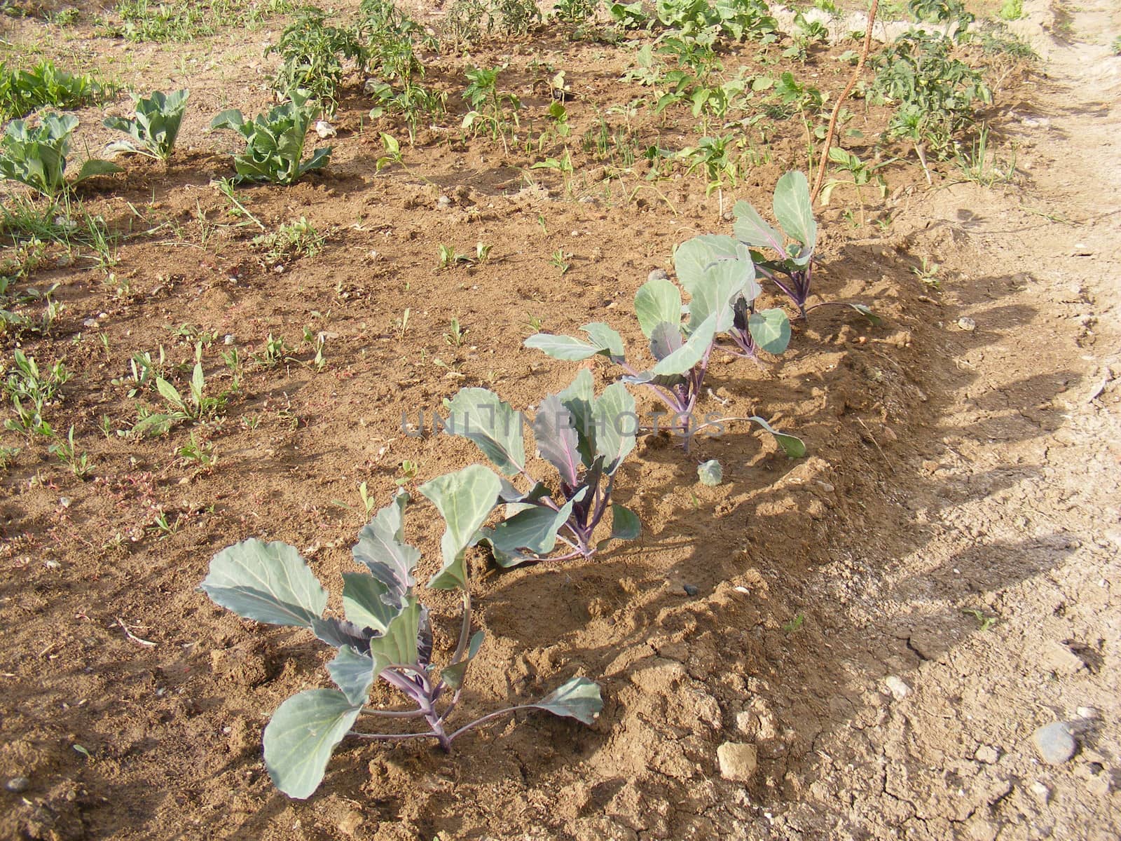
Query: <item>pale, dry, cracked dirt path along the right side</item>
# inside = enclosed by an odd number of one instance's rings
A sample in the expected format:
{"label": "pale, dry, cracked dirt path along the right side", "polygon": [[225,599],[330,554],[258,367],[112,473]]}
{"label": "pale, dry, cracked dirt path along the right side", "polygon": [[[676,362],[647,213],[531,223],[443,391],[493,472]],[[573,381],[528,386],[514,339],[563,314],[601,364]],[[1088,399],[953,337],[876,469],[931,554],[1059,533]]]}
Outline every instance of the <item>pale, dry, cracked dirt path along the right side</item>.
{"label": "pale, dry, cracked dirt path along the right side", "polygon": [[[1121,833],[1121,16],[1096,0],[1055,19],[1046,77],[999,123],[1029,183],[956,185],[898,218],[906,251],[948,278],[927,311],[944,379],[920,383],[948,400],[891,450],[910,540],[864,547],[887,574],[837,560],[807,586],[846,620],[800,671],[846,677],[832,705],[850,709],[770,780],[793,805],[761,837]],[[1051,722],[1078,743],[1054,766],[1032,743]]]}

